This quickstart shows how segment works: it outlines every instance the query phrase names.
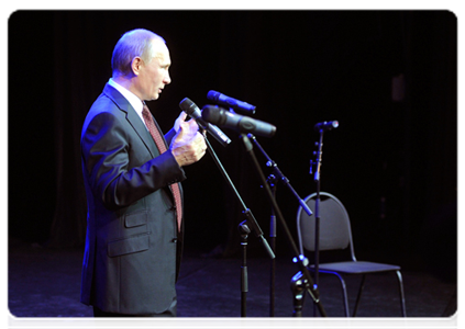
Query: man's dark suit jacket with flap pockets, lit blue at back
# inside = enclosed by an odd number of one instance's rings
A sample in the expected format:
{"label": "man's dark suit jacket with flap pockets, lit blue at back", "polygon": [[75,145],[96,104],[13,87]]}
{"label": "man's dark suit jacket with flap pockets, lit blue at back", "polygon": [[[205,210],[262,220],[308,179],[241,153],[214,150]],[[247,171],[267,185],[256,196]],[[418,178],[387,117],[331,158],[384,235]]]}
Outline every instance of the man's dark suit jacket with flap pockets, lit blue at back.
{"label": "man's dark suit jacket with flap pockets, lit blue at back", "polygon": [[159,155],[137,113],[109,84],[86,117],[81,158],[88,203],[81,302],[119,314],[166,310],[182,240],[169,185],[185,179],[184,170],[169,151]]}

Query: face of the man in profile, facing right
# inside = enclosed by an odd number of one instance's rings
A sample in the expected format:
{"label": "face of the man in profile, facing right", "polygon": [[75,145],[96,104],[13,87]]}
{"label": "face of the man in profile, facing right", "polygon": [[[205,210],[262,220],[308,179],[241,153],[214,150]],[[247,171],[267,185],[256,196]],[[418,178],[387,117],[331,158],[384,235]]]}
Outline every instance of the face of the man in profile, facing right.
{"label": "face of the man in profile, facing right", "polygon": [[143,63],[139,75],[139,90],[143,100],[154,101],[159,98],[162,90],[171,82],[169,77],[169,50],[162,41],[153,41],[155,57],[150,63]]}

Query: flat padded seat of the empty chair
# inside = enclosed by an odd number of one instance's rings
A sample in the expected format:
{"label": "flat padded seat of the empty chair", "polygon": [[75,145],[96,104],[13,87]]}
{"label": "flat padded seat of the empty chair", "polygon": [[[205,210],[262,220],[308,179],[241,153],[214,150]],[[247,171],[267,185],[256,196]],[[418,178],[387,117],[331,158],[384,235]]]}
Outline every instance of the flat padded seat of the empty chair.
{"label": "flat padded seat of the empty chair", "polygon": [[[313,269],[313,265],[310,266]],[[373,263],[364,261],[348,261],[348,262],[336,262],[336,263],[322,263],[319,264],[320,271],[340,272],[345,274],[364,274],[364,273],[376,273],[376,272],[388,272],[388,271],[400,271],[398,265],[389,265],[383,263]]]}

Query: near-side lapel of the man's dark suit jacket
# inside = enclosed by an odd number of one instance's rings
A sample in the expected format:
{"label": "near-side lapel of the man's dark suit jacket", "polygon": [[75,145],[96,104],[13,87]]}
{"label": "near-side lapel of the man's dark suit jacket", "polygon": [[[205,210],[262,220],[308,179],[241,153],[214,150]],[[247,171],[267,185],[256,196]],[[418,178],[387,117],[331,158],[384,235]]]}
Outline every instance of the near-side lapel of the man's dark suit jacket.
{"label": "near-side lapel of the man's dark suit jacket", "polygon": [[121,111],[126,113],[126,120],[129,124],[134,128],[139,137],[141,137],[152,157],[155,158],[156,156],[159,156],[159,151],[155,145],[154,139],[152,138],[141,117],[132,107],[131,103],[117,89],[108,83],[103,89],[103,93],[107,94],[118,105],[118,107],[120,107]]}

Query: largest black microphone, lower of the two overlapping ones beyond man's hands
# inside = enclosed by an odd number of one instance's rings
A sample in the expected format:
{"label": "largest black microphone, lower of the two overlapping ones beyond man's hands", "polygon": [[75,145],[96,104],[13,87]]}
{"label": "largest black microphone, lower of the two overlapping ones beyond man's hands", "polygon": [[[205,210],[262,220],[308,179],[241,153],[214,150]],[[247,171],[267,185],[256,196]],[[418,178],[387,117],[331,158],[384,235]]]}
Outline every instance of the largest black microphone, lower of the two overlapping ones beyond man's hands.
{"label": "largest black microphone, lower of the two overlapping ones beyond man's hands", "polygon": [[202,117],[204,121],[212,124],[234,129],[240,133],[251,133],[264,137],[272,137],[276,133],[276,127],[269,123],[234,114],[213,105],[203,106]]}

